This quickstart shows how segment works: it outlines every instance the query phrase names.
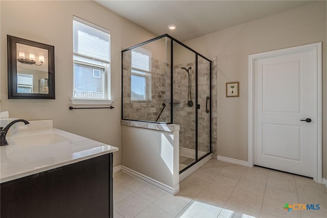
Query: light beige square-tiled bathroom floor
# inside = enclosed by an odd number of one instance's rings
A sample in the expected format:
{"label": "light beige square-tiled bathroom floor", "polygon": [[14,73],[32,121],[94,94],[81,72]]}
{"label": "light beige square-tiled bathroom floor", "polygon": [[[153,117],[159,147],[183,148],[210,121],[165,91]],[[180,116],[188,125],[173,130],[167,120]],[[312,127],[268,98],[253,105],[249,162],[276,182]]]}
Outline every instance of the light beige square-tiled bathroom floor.
{"label": "light beige square-tiled bathroom floor", "polygon": [[[169,195],[126,173],[114,173],[114,217],[327,217],[327,188],[311,179],[210,160]],[[285,203],[319,204],[291,210]]]}

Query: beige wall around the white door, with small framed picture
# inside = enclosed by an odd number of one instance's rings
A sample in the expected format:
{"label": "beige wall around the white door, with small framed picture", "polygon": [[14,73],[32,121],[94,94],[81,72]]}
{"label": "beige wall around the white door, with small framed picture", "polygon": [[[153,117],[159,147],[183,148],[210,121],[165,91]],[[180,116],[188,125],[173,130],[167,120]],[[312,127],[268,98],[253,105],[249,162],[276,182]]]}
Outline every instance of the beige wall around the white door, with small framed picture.
{"label": "beige wall around the white door, with small framed picture", "polygon": [[[204,56],[218,56],[218,155],[248,159],[248,55],[322,41],[323,178],[327,177],[325,15],[325,2],[314,2],[185,42]],[[239,98],[225,97],[229,81],[240,81]]]}

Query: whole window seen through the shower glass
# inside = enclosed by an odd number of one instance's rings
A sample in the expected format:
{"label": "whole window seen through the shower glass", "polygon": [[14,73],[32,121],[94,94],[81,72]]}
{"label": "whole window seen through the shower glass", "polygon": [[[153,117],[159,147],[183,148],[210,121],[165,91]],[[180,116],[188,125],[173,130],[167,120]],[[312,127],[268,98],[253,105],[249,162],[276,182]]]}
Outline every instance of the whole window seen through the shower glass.
{"label": "whole window seen through the shower glass", "polygon": [[132,50],[131,100],[151,100],[151,52],[141,47]]}

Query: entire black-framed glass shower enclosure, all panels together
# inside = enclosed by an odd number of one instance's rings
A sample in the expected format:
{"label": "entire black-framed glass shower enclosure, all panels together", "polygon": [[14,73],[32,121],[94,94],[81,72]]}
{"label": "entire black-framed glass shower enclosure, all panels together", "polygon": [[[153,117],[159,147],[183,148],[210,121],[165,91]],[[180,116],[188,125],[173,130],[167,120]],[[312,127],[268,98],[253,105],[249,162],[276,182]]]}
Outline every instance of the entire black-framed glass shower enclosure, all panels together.
{"label": "entire black-framed glass shower enclosure, all panels together", "polygon": [[179,172],[211,154],[211,60],[168,34],[122,51],[122,119],[179,124]]}

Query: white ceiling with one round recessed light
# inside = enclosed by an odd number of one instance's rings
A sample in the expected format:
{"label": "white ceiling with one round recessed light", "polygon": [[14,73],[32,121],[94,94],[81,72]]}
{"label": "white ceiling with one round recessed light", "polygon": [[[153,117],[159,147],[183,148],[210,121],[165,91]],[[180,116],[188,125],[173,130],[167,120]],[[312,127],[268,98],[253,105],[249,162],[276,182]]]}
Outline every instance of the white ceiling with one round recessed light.
{"label": "white ceiling with one round recessed light", "polygon": [[[186,41],[312,1],[95,1],[155,35]],[[168,25],[177,25],[169,30]]]}

